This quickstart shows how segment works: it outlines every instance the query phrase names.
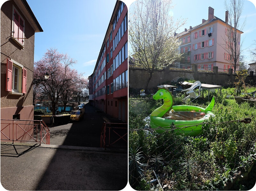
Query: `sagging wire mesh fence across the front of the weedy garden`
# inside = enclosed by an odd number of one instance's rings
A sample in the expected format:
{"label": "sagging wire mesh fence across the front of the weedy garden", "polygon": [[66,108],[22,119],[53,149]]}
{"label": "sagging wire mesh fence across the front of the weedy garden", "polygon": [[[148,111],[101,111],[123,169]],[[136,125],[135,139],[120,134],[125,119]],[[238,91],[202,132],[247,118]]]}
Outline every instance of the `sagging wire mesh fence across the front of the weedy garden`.
{"label": "sagging wire mesh fence across the front of the weedy garden", "polygon": [[175,125],[129,129],[130,185],[136,190],[223,190],[256,159],[253,116],[210,118],[197,125],[202,132],[196,137],[177,133]]}

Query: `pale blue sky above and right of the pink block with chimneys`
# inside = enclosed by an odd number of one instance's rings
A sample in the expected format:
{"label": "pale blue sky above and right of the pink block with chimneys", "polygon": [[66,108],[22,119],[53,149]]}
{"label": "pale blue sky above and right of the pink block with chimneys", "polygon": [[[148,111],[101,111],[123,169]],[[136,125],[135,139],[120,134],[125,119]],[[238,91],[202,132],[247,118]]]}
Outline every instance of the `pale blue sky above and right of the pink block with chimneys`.
{"label": "pale blue sky above and right of the pink block with chimneys", "polygon": [[[229,2],[229,0],[227,0]],[[252,3],[253,2],[253,3]],[[189,26],[195,27],[202,23],[202,19],[208,20],[208,7],[214,9],[214,16],[225,21],[225,9],[224,0],[213,1],[201,1],[201,0],[172,0],[174,6],[170,14],[174,20],[179,18],[187,19],[186,24],[180,28],[180,31],[184,31]],[[244,33],[241,35],[241,42],[243,41],[241,50],[244,55],[244,60],[247,64],[252,63],[250,53],[248,52],[252,48],[253,40],[256,40],[256,0],[244,0],[244,9],[241,16],[241,21],[246,18],[246,24],[242,30]],[[242,23],[241,23],[242,24]],[[254,45],[255,47],[255,45]]]}

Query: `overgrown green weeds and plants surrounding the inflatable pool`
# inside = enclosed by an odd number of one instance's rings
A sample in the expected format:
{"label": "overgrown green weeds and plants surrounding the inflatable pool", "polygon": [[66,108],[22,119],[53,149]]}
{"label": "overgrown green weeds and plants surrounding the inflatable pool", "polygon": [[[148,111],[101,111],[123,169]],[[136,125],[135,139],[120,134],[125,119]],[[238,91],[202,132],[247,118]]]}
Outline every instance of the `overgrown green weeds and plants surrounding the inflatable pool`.
{"label": "overgrown green weeds and plants surrounding the inflatable pool", "polygon": [[[256,90],[246,88],[247,92]],[[248,170],[256,159],[256,105],[238,104],[235,88],[222,89],[221,96],[216,90],[212,96],[215,118],[203,124],[198,137],[145,130],[143,119],[163,102],[152,95],[129,97],[129,182],[134,189],[223,190],[239,171]],[[174,105],[209,104],[202,96],[191,103],[183,101],[184,97],[174,98]],[[251,118],[251,123],[242,123],[244,118]]]}

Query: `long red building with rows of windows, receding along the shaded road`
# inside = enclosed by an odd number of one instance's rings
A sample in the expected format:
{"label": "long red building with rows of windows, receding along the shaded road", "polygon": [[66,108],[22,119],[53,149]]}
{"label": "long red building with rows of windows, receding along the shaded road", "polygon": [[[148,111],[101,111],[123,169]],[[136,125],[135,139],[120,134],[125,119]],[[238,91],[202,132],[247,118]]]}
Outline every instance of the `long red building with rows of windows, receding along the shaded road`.
{"label": "long red building with rows of windows, receding along the shaded road", "polygon": [[116,1],[93,74],[89,99],[104,113],[128,121],[127,6]]}

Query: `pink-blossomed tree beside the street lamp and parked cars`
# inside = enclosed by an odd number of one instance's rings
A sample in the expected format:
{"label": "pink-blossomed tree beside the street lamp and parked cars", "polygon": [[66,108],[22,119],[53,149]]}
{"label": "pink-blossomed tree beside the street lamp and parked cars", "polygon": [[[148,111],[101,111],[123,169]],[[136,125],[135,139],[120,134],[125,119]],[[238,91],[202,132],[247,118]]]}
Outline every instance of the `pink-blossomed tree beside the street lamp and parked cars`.
{"label": "pink-blossomed tree beside the street lamp and parked cars", "polygon": [[[84,89],[88,84],[82,74],[70,67],[76,64],[68,54],[61,54],[57,49],[50,49],[43,58],[34,63],[35,84],[44,89],[52,103],[52,114],[60,98],[64,103],[64,110],[69,98],[76,88]],[[44,74],[49,73],[49,79],[44,80]]]}

